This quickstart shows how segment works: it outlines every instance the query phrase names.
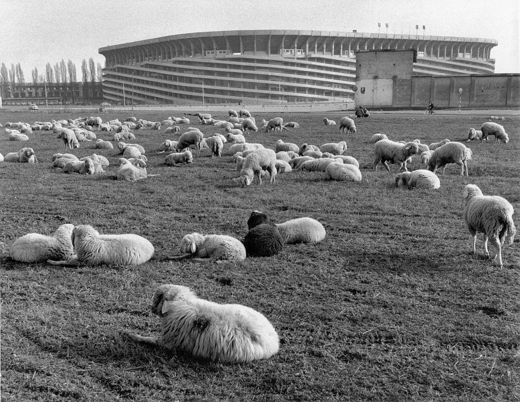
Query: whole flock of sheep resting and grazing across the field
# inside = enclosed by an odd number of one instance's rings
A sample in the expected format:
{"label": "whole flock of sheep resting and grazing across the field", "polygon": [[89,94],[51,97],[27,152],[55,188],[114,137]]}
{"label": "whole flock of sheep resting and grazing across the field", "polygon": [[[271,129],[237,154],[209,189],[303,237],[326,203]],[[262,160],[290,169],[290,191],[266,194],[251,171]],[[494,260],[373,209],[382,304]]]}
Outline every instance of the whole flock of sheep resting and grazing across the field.
{"label": "whole flock of sheep resting and grazing across the field", "polygon": [[[321,171],[326,178],[360,182],[362,180],[359,162],[347,155],[346,141],[326,143],[321,146],[278,140],[273,148],[259,143],[246,142],[251,131],[281,132],[298,128],[296,122],[284,123],[276,117],[257,124],[247,110],[229,110],[228,120],[215,120],[209,114],[194,114],[199,124],[213,125],[223,129],[204,137],[194,127],[184,133],[179,124],[190,124],[187,118],[170,117],[163,121],[147,121],[129,118],[127,121],[111,120],[103,123],[100,117],[80,118],[50,122],[7,123],[6,133],[9,140],[28,141],[34,130],[51,130],[63,142],[66,149],[79,148],[80,143],[96,141],[97,152],[113,150],[111,141],[116,141],[120,154],[115,171],[116,178],[124,181],[137,181],[152,175],[147,173],[148,157],[145,149],[136,143],[136,130],[164,129],[166,134],[179,134],[177,140],[165,140],[154,150],[154,154],[165,157],[164,165],[182,166],[193,162],[201,149],[209,148],[212,157],[220,157],[228,144],[227,154],[232,155],[235,170],[239,177],[233,179],[242,186],[249,186],[255,178],[262,184],[262,177],[269,174],[269,182],[276,182],[276,175],[294,169],[301,171]],[[325,125],[336,122],[323,119]],[[356,132],[354,120],[343,117],[340,132]],[[132,132],[131,130],[134,130]],[[110,141],[97,139],[97,135],[112,135]],[[508,134],[504,128],[493,122],[482,124],[479,130],[471,129],[468,140],[488,141],[494,135],[495,141],[507,143]],[[436,174],[447,164],[458,164],[461,174],[468,175],[467,161],[472,151],[460,142],[448,139],[430,145],[412,142],[394,142],[385,134],[374,134],[373,169],[377,171],[381,163],[390,171],[388,163],[399,165],[394,177],[397,187],[412,189],[438,189],[440,180]],[[149,152],[150,154],[150,152]],[[407,163],[415,155],[420,155],[426,169],[408,171]],[[150,156],[150,155],[148,155]],[[38,163],[34,149],[22,148],[8,153],[0,161]],[[53,155],[51,167],[64,173],[99,174],[109,167],[109,161],[100,154],[78,158],[73,154]],[[444,174],[444,170],[443,170]],[[501,246],[512,244],[516,233],[512,219],[513,207],[500,196],[485,196],[474,185],[466,185],[463,191],[465,201],[464,219],[472,236],[472,250],[475,253],[476,233],[484,233],[485,253],[491,260],[496,259],[502,266]],[[190,233],[185,235],[179,247],[180,255],[168,257],[171,260],[210,260],[243,261],[247,257],[276,255],[286,245],[293,243],[317,243],[324,239],[323,225],[312,218],[302,217],[283,223],[275,223],[266,213],[253,211],[248,220],[249,232],[243,241],[235,237],[219,234]],[[492,246],[489,254],[487,243]],[[10,249],[11,258],[23,262],[47,261],[51,265],[139,265],[149,261],[154,255],[154,246],[144,237],[136,234],[100,234],[90,225],[61,225],[51,235],[38,233],[26,234],[16,240]],[[173,284],[161,285],[153,296],[152,311],[161,318],[162,331],[158,337],[143,337],[129,334],[135,340],[159,345],[165,348],[182,349],[196,357],[209,358],[223,362],[245,362],[268,358],[277,353],[278,335],[271,323],[259,312],[241,305],[219,305],[199,299],[189,288]]]}

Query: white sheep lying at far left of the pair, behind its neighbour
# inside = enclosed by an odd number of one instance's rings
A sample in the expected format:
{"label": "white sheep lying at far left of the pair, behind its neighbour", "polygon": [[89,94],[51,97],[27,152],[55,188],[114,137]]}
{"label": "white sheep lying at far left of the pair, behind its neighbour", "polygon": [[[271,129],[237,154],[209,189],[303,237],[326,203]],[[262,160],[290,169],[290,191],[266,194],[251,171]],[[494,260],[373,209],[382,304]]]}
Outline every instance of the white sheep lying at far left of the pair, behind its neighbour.
{"label": "white sheep lying at far left of the pair, behind its neighbour", "polygon": [[54,234],[40,233],[23,235],[11,245],[11,258],[21,262],[69,259],[74,254],[71,235],[74,225],[61,225]]}

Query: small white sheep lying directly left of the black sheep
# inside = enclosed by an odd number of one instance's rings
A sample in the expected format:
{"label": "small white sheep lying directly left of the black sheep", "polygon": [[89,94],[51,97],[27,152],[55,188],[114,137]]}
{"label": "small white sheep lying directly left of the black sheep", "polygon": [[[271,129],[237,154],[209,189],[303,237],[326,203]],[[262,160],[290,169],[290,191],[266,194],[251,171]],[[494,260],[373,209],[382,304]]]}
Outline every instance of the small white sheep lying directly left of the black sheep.
{"label": "small white sheep lying directly left of the black sheep", "polygon": [[180,252],[184,254],[168,258],[173,260],[192,258],[196,261],[209,259],[217,263],[245,260],[245,248],[242,242],[223,234],[187,234],[180,241]]}

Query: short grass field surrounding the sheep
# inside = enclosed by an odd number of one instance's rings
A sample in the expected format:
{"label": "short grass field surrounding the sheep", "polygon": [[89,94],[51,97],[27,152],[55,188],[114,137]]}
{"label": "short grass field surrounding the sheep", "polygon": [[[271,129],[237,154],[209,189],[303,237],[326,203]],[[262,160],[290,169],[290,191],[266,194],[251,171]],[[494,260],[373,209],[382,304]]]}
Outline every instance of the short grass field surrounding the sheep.
{"label": "short grass field surrounding the sheep", "polygon": [[[0,122],[68,117],[77,116],[2,112]],[[152,151],[166,136],[152,130],[136,131],[136,142],[147,149],[148,173],[159,176],[114,180],[119,156],[113,151],[100,152],[111,163],[106,173],[67,175],[50,168],[51,156],[65,152],[55,135],[35,132],[29,143],[19,143],[0,129],[0,153],[30,146],[40,161],[0,163],[2,400],[518,400],[520,236],[503,249],[502,269],[484,258],[480,237],[478,254],[471,255],[462,190],[474,183],[484,194],[507,198],[520,227],[520,118],[500,122],[508,144],[468,143],[469,177],[449,165],[440,189],[428,192],[393,187],[395,165],[392,173],[373,171],[372,134],[426,144],[465,141],[485,116],[372,115],[356,119],[358,132],[348,135],[322,125],[323,117],[283,115],[301,128],[259,132],[248,141],[274,148],[279,138],[298,145],[346,140],[349,155],[360,162],[361,183],[296,171],[279,174],[274,185],[265,180],[238,187],[229,155],[211,158],[206,149],[192,165],[164,166],[164,156]],[[206,136],[223,131],[198,127]],[[87,156],[93,148],[81,143],[73,153]],[[409,168],[420,168],[417,157]],[[327,237],[242,263],[164,260],[194,231],[243,238],[255,209],[277,222],[318,219]],[[19,236],[50,234],[63,223],[145,236],[155,256],[130,267],[55,267],[9,258]],[[135,343],[124,333],[159,332],[149,304],[163,283],[261,311],[280,336],[279,353],[222,365]]]}

